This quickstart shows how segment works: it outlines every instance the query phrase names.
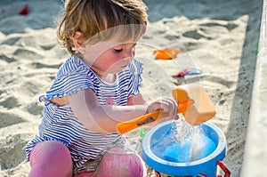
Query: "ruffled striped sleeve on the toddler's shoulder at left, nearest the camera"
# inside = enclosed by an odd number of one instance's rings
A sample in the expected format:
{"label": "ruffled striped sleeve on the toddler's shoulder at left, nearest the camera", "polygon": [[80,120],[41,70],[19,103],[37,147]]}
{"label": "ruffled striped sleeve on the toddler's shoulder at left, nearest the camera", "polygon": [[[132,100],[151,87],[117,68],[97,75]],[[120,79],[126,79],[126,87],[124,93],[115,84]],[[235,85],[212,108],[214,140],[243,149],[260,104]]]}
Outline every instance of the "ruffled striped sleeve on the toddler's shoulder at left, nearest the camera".
{"label": "ruffled striped sleeve on the toddler's shoulder at left, nearest the camera", "polygon": [[59,72],[45,94],[47,100],[52,100],[54,97],[63,97],[72,93],[77,93],[78,90],[92,88],[95,75],[92,70],[85,65],[83,60],[72,56],[59,69]]}

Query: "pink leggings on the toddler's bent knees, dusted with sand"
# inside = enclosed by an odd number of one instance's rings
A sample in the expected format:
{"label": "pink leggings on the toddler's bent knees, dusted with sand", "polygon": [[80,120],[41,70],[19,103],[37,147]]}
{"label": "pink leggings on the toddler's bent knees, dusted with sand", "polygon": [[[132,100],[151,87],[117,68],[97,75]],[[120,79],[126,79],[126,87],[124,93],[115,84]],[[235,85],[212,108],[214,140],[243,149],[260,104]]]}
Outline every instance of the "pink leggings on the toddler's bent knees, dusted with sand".
{"label": "pink leggings on the toddler's bent knees, dusted with sand", "polygon": [[31,171],[28,177],[143,177],[146,167],[138,155],[124,149],[109,150],[101,159],[96,172],[72,173],[69,149],[59,141],[43,141],[36,144],[29,156]]}

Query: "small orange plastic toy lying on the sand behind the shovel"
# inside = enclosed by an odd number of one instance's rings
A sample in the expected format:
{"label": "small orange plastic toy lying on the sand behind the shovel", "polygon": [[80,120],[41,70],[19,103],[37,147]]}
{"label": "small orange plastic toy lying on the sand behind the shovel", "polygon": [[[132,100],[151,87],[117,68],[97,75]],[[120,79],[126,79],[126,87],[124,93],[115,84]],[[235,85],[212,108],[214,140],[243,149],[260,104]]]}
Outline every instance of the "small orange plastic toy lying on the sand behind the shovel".
{"label": "small orange plastic toy lying on the sand behind the shovel", "polygon": [[163,50],[157,49],[153,51],[153,53],[156,54],[156,59],[158,60],[174,59],[179,52],[180,50],[177,48],[165,48]]}

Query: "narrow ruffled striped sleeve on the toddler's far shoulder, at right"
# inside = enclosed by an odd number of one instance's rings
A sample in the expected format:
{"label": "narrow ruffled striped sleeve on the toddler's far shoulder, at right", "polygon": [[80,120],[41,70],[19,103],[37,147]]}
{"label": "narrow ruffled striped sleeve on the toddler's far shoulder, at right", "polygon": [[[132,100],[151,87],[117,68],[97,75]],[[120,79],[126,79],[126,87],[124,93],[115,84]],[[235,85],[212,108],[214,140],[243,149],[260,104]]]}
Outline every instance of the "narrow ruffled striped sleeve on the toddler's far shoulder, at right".
{"label": "narrow ruffled striped sleeve on the toddler's far shoulder, at right", "polygon": [[128,68],[130,72],[128,96],[137,95],[140,93],[139,87],[142,84],[142,62],[139,60],[132,60]]}

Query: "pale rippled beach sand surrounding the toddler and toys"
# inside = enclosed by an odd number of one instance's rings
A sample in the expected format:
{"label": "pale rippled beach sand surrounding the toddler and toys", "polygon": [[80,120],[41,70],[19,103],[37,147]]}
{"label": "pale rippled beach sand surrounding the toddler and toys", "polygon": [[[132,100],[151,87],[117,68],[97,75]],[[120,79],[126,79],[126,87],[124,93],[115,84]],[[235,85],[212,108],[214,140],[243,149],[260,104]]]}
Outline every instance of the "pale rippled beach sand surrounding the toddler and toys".
{"label": "pale rippled beach sand surrounding the toddler and toys", "polygon": [[[55,0],[2,0],[0,3],[0,176],[27,176],[25,144],[38,133],[43,104],[38,96],[49,87],[69,56],[57,44]],[[150,28],[138,45],[144,62],[142,93],[148,100],[170,96],[174,85],[200,82],[217,110],[211,120],[226,135],[223,163],[238,177],[243,161],[254,81],[262,1],[146,0]],[[215,3],[216,2],[216,3]],[[29,13],[19,16],[29,5]],[[155,60],[153,50],[179,46],[175,60]],[[200,76],[174,79],[186,67]],[[136,144],[132,144],[133,147]]]}

